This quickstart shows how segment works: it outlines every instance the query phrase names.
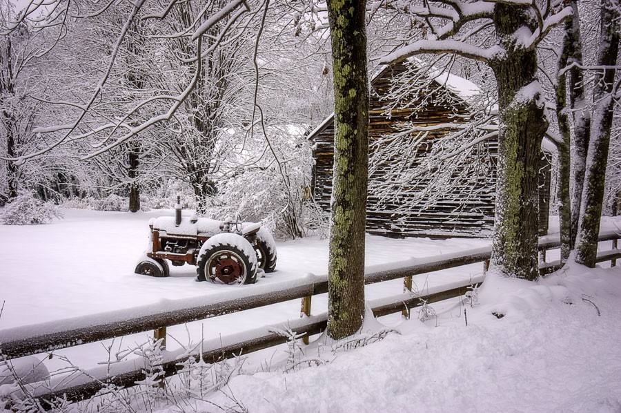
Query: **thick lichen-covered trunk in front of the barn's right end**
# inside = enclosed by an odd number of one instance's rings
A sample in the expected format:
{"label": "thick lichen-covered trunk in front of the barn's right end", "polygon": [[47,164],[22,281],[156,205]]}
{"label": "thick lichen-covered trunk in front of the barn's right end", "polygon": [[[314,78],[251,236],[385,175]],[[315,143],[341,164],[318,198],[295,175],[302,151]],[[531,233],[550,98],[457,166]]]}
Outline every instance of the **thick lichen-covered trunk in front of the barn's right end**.
{"label": "thick lichen-covered trunk in front of the barn's right end", "polygon": [[493,236],[494,268],[504,276],[534,280],[538,270],[538,162],[547,128],[534,50],[515,47],[515,32],[531,23],[526,8],[497,3],[496,30],[506,50],[491,61],[498,84],[500,131]]}

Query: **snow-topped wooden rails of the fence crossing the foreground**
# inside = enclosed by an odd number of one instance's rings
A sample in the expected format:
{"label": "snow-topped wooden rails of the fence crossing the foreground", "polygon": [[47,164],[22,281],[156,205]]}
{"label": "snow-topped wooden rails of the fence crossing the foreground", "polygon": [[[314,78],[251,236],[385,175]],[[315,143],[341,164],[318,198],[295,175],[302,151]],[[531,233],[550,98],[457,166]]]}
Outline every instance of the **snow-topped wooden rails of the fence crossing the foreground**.
{"label": "snow-topped wooden rails of the fence crossing the foreground", "polygon": [[[616,249],[615,240],[621,238],[619,233],[607,231],[600,233],[600,241],[613,240],[613,249],[598,254],[598,262],[621,258],[621,250]],[[540,239],[540,250],[555,249],[560,246],[557,236],[545,236]],[[406,260],[393,265],[367,267],[365,283],[373,284],[404,278],[406,280],[417,274],[460,267],[476,262],[486,262],[491,257],[491,247],[461,251],[460,253],[444,254],[424,258],[422,260]],[[558,269],[558,262],[542,263],[542,273]],[[483,276],[476,276],[462,282],[452,282],[428,289],[424,295],[406,291],[403,294],[373,300],[369,302],[375,316],[384,316],[399,311],[408,311],[422,305],[422,302],[437,302],[462,296],[472,285],[482,282]],[[310,315],[310,297],[328,291],[326,275],[308,274],[304,278],[286,283],[283,287],[255,286],[253,288],[228,291],[221,294],[208,304],[204,298],[197,297],[184,300],[162,300],[152,305],[133,309],[109,311],[96,316],[83,316],[51,323],[41,323],[26,327],[15,327],[0,330],[1,354],[8,358],[19,358],[32,354],[53,352],[56,349],[72,347],[95,341],[126,336],[149,330],[156,334],[167,326],[190,323],[205,318],[221,316],[237,311],[245,311],[257,307],[304,298],[308,304],[303,311],[305,318],[288,320],[286,323],[259,327],[239,334],[223,338],[204,340],[202,358],[206,363],[214,363],[223,358],[239,356],[264,349],[281,343],[288,338],[279,333],[283,328],[297,334],[307,336],[318,334],[326,328],[327,314]],[[165,330],[164,330],[165,334]],[[189,357],[185,349],[162,352],[162,368],[165,376],[177,373],[177,365]],[[128,360],[113,365],[103,365],[90,370],[80,370],[75,374],[51,378],[44,384],[28,385],[31,394],[42,399],[66,396],[68,400],[79,400],[90,397],[108,384],[128,387],[144,379],[144,366],[141,361]]]}

